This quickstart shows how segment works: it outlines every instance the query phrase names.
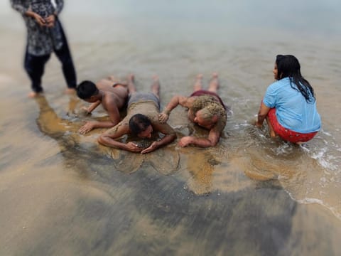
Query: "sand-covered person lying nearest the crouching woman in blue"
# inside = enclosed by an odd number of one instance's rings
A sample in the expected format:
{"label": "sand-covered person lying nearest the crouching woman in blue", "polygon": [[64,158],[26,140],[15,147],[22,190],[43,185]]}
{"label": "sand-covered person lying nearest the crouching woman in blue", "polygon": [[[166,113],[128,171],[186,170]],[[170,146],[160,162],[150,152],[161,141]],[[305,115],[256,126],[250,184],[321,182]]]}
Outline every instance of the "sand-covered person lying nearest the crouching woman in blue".
{"label": "sand-covered person lying nearest the crouching woman in blue", "polygon": [[192,144],[194,146],[209,147],[215,146],[219,142],[227,121],[227,112],[224,103],[217,95],[218,88],[217,73],[212,74],[208,90],[202,90],[202,75],[197,75],[192,95],[190,97],[174,96],[160,114],[160,122],[166,122],[175,107],[178,105],[187,107],[188,119],[210,131],[207,138],[185,136],[178,142],[180,146]]}

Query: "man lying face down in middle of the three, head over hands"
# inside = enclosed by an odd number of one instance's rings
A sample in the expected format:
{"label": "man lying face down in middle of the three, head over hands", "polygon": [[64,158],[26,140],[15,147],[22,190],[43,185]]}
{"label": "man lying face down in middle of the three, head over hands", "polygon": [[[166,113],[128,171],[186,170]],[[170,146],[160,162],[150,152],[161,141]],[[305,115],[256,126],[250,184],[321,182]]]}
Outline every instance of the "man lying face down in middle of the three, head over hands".
{"label": "man lying face down in middle of the three, head over hands", "polygon": [[[98,142],[104,146],[142,154],[149,153],[173,142],[176,137],[173,128],[158,121],[158,115],[160,114],[160,84],[158,77],[153,78],[152,92],[136,92],[133,75],[129,77],[128,87],[131,95],[128,100],[126,117],[119,124],[104,132],[99,137]],[[152,142],[146,149],[136,144],[136,142],[124,143],[118,140],[125,134],[131,134],[141,139],[151,139],[153,132],[161,133],[163,137]]]}

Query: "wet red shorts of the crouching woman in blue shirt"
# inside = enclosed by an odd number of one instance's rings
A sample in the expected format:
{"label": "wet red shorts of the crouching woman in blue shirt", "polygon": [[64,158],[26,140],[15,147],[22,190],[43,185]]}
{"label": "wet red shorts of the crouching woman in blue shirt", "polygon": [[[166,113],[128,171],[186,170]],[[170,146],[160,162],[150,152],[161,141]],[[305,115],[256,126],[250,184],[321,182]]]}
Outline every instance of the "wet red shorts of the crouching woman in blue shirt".
{"label": "wet red shorts of the crouching woman in blue shirt", "polygon": [[315,135],[318,133],[318,132],[310,132],[308,134],[302,134],[300,132],[294,132],[291,129],[284,128],[277,121],[275,108],[271,108],[271,110],[268,113],[268,117],[269,117],[269,121],[272,127],[274,127],[274,131],[276,132],[276,134],[278,134],[279,137],[281,137],[282,139],[288,142],[293,142],[293,143],[308,142],[310,141],[310,139],[313,139],[313,137],[315,137]]}

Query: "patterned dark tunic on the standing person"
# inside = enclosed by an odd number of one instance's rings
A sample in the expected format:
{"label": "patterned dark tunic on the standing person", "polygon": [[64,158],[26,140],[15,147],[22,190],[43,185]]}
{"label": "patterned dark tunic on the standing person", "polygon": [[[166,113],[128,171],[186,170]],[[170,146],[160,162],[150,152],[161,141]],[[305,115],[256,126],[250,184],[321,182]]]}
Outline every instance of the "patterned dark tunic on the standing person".
{"label": "patterned dark tunic on the standing person", "polygon": [[55,6],[51,0],[11,0],[11,6],[22,14],[26,23],[28,53],[41,56],[59,50],[63,46],[63,32],[57,18],[55,26],[48,28],[40,26],[34,18],[26,16],[26,11],[31,10],[46,18],[52,14],[58,15],[63,5],[63,0],[55,0]]}

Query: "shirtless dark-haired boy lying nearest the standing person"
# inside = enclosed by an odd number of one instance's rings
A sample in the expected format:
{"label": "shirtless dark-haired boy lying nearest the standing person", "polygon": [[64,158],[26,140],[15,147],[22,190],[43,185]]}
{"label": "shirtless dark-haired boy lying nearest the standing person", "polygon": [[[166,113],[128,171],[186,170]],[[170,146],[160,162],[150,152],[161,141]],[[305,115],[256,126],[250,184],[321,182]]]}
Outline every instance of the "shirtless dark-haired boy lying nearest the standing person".
{"label": "shirtless dark-haired boy lying nearest the standing person", "polygon": [[98,105],[102,104],[104,110],[109,114],[108,121],[90,121],[80,127],[80,134],[86,134],[94,128],[114,127],[121,121],[119,110],[126,105],[128,98],[128,85],[124,82],[115,82],[115,78],[110,76],[94,82],[85,80],[77,86],[77,96],[86,102],[92,103],[85,110],[91,113]]}

